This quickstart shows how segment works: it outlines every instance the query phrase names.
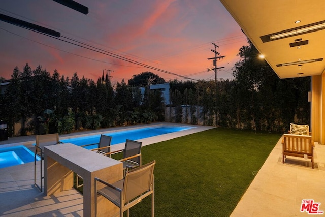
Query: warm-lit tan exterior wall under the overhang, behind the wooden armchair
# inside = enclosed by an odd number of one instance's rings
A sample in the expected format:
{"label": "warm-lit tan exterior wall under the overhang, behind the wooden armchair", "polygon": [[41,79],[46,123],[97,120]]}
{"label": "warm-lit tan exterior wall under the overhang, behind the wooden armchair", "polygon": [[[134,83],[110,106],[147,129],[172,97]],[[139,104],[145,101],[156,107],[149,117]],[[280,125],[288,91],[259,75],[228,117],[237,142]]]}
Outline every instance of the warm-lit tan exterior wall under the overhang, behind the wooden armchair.
{"label": "warm-lit tan exterior wall under the overhang, behind the wooden armchair", "polygon": [[315,142],[325,144],[325,73],[311,78],[311,132]]}

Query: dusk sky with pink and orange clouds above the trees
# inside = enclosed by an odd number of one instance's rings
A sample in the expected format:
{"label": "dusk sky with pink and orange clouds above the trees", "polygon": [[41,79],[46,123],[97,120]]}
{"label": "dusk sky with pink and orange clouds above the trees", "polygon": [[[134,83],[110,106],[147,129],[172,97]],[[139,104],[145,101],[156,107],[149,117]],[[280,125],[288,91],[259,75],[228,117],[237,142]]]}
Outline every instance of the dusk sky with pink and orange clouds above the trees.
{"label": "dusk sky with pink and orange clouds above the trees", "polygon": [[[127,81],[150,71],[166,81],[214,80],[211,49],[226,57],[218,60],[217,78],[233,79],[232,68],[246,36],[219,1],[215,0],[76,0],[89,8],[84,15],[51,0],[1,0],[0,14],[41,25],[61,33],[51,38],[0,21],[0,76],[10,79],[13,69],[26,63],[50,74],[72,77],[77,72],[97,81],[103,70],[112,82]],[[60,39],[60,40],[58,40]],[[64,41],[61,41],[64,40]],[[79,44],[89,50],[69,42]],[[76,42],[77,41],[77,42]],[[88,45],[92,46],[89,47]],[[159,72],[106,55],[107,52],[177,75]],[[106,53],[106,54],[103,54]]]}

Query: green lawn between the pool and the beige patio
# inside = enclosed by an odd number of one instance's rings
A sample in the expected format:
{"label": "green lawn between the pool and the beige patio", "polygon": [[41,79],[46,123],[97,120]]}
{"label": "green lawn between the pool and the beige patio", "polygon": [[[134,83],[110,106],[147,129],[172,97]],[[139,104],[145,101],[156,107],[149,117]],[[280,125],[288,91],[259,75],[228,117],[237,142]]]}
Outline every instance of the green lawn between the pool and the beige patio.
{"label": "green lawn between the pool and the beige patio", "polygon": [[[216,128],[142,147],[156,160],[155,216],[229,216],[280,134]],[[131,216],[150,216],[147,197]]]}

